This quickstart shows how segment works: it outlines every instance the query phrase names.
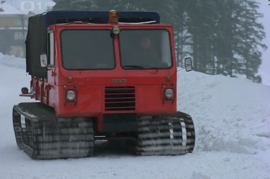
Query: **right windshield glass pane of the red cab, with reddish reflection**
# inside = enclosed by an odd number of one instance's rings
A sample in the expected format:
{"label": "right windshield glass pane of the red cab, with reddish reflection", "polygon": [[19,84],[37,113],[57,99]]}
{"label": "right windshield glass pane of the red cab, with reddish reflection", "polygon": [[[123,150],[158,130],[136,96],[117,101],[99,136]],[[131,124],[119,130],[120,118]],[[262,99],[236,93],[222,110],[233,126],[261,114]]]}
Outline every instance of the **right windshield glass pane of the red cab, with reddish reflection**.
{"label": "right windshield glass pane of the red cab, with reddish reflection", "polygon": [[124,69],[168,69],[173,65],[167,30],[121,30],[119,45]]}

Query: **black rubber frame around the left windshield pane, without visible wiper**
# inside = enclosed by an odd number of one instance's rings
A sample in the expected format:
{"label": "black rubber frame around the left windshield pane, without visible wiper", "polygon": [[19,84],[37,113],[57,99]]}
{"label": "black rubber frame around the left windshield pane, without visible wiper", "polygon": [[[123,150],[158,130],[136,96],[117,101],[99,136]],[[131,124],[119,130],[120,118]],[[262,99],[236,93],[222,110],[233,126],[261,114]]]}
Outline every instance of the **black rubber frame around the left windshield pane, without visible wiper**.
{"label": "black rubber frame around the left windshield pane, without visible wiper", "polygon": [[[113,58],[114,58],[114,66],[113,68],[106,68],[106,69],[102,69],[102,68],[94,68],[94,69],[90,69],[90,68],[84,68],[84,69],[68,69],[64,66],[63,64],[63,44],[62,44],[62,32],[64,31],[99,31],[99,30],[102,30],[102,31],[108,31],[110,35],[110,38],[112,38],[112,45],[113,45]],[[62,68],[65,69],[65,70],[68,70],[68,71],[87,71],[87,70],[113,70],[116,68],[116,65],[117,65],[117,62],[116,62],[116,53],[115,53],[115,39],[114,37],[111,36],[111,29],[108,29],[108,28],[64,28],[63,30],[60,31],[60,35],[59,35],[59,39],[60,39],[60,52],[61,52],[61,65],[62,65]]]}

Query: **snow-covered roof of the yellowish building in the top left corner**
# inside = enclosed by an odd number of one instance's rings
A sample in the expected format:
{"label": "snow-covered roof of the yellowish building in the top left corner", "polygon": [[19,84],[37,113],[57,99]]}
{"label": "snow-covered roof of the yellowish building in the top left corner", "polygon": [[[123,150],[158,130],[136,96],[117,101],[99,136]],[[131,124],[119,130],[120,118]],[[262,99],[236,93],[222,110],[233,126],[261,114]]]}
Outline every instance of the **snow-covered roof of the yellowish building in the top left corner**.
{"label": "snow-covered roof of the yellowish building in the top left corner", "polygon": [[28,15],[29,11],[21,11],[11,4],[0,1],[0,15]]}

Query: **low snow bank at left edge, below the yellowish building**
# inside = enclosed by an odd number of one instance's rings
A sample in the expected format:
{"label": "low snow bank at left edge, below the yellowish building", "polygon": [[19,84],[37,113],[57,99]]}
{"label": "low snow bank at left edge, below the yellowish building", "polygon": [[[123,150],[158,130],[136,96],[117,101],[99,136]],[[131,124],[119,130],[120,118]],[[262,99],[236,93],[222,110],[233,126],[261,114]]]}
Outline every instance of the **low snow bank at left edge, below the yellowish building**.
{"label": "low snow bank at left edge, below the yellowish building", "polygon": [[18,58],[15,56],[4,55],[0,53],[0,64],[3,64],[8,67],[15,67],[19,69],[26,68],[25,58]]}

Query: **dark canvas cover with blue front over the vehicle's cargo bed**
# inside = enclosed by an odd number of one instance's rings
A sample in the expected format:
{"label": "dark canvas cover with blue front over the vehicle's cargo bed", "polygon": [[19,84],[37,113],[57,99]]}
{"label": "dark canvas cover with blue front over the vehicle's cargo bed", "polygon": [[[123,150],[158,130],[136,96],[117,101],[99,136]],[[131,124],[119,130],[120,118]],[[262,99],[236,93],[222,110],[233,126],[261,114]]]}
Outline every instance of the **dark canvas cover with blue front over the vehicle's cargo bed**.
{"label": "dark canvas cover with blue front over the vehicle's cargo bed", "polygon": [[[117,12],[119,22],[156,21],[158,12]],[[37,78],[47,78],[45,67],[40,65],[40,54],[47,54],[47,28],[49,25],[74,21],[107,24],[109,11],[50,11],[29,17],[26,37],[26,72]]]}

